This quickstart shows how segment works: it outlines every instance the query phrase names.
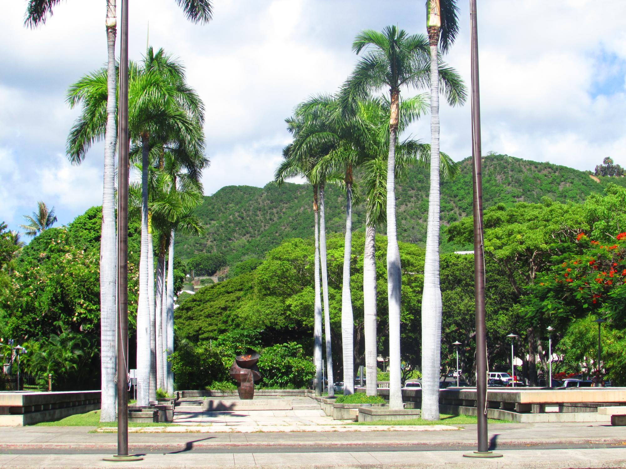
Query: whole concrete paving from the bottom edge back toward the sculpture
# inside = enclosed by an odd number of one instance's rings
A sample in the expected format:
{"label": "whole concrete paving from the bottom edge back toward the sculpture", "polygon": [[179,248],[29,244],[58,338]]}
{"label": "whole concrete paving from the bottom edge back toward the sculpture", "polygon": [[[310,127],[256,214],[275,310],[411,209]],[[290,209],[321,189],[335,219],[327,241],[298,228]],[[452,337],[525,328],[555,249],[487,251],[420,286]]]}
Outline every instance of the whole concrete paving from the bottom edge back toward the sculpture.
{"label": "whole concrete paving from the bottom edge back toward the sculpture", "polygon": [[626,468],[626,426],[604,422],[491,424],[490,449],[504,457],[475,460],[463,457],[476,449],[475,424],[349,425],[310,398],[282,411],[181,404],[179,425],[131,428],[130,452],[143,461],[102,460],[116,452],[116,433],[22,426],[0,428],[0,468]]}

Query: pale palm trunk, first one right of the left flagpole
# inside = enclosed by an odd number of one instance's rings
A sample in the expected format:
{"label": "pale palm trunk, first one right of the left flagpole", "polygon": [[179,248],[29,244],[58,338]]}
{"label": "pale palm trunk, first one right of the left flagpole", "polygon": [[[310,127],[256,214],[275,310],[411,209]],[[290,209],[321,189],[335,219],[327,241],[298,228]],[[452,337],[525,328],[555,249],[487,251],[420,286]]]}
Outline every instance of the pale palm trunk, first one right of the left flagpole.
{"label": "pale palm trunk, first one right of the left flagpole", "polygon": [[141,135],[141,257],[137,308],[137,405],[150,401],[150,311],[148,303],[148,134]]}

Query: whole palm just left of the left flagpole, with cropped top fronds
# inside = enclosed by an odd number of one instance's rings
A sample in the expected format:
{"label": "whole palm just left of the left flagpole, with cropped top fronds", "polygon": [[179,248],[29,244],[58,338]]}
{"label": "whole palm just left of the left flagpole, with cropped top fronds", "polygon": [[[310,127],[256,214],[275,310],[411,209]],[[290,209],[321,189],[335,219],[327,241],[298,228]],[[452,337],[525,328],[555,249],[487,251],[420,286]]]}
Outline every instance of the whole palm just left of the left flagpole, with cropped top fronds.
{"label": "whole palm just left of the left flagpole, with cropped top fronds", "polygon": [[[46,22],[53,8],[61,0],[28,0],[24,23],[31,28]],[[104,184],[102,197],[102,225],[100,238],[100,344],[101,344],[101,421],[115,420],[115,285],[116,285],[116,239],[115,239],[115,146],[116,84],[115,36],[117,33],[116,0],[106,1],[106,131],[104,154]],[[211,0],[175,0],[193,23],[206,23],[212,16]],[[68,153],[70,161],[80,164],[85,153]]]}

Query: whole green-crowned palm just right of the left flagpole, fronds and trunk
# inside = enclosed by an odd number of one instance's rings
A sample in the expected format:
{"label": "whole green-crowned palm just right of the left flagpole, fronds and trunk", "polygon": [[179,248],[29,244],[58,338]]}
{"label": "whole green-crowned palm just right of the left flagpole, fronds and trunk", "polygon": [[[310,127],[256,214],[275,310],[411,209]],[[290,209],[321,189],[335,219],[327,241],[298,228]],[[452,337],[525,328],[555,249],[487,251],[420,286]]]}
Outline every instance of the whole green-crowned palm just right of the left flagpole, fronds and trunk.
{"label": "whole green-crowned palm just right of the left flagpole, fronds and trunk", "polygon": [[[151,49],[150,49],[151,51]],[[149,52],[150,52],[149,51]],[[157,53],[165,59],[165,54]],[[137,391],[140,405],[148,405],[150,380],[150,313],[148,311],[148,211],[147,168],[148,141],[152,134],[175,135],[185,143],[202,139],[202,103],[184,83],[152,66],[150,54],[141,64],[129,66],[129,129],[131,139],[140,141],[142,150],[143,206],[141,216],[140,294],[137,311]],[[172,69],[180,70],[174,63]],[[68,137],[68,153],[85,154],[86,149],[106,130],[106,69],[101,69],[74,83],[68,91],[70,106],[82,104],[81,115]]]}

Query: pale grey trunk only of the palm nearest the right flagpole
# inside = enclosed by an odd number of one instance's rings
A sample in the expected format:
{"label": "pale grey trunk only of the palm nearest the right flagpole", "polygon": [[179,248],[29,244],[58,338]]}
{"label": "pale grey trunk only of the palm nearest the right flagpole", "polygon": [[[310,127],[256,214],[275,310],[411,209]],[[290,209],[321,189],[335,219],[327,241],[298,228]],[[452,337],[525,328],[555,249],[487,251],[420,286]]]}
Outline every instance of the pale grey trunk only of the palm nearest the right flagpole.
{"label": "pale grey trunk only of the palm nearest the right flagpole", "polygon": [[441,365],[441,288],[439,286],[439,28],[428,28],[430,40],[431,168],[428,228],[422,296],[422,418],[439,420]]}

